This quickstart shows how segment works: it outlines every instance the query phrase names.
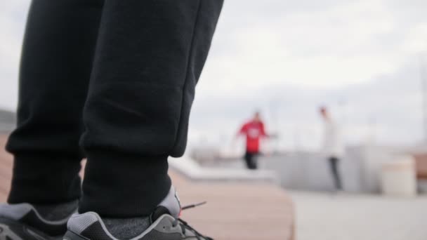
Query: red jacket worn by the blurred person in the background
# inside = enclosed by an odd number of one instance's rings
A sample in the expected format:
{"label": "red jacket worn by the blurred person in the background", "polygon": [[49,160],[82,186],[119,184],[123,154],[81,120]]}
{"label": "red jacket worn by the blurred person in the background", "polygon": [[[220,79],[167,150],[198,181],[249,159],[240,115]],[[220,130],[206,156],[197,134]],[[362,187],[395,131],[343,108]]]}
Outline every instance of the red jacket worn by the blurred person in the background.
{"label": "red jacket worn by the blurred person in the background", "polygon": [[259,142],[261,137],[266,137],[264,124],[262,121],[249,121],[240,128],[239,134],[246,135],[247,152],[259,152]]}

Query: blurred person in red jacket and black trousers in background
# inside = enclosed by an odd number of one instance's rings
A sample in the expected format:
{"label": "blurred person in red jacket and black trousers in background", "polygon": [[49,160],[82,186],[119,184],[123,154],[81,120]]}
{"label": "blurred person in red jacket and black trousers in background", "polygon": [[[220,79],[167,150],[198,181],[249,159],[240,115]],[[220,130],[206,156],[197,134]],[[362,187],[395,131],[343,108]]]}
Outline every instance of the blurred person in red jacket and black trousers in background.
{"label": "blurred person in red jacket and black trousers in background", "polygon": [[264,123],[261,120],[261,114],[256,112],[253,119],[243,124],[237,135],[246,136],[246,152],[244,161],[247,168],[251,170],[258,169],[258,154],[260,153],[260,140],[263,137],[268,137],[265,133]]}

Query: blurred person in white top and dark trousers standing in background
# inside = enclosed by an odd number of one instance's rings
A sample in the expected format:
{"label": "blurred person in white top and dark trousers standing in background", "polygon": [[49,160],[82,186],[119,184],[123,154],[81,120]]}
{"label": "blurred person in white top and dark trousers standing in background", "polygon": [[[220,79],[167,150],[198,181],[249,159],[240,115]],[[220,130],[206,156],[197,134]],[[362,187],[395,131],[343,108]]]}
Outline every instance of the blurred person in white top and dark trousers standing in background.
{"label": "blurred person in white top and dark trousers standing in background", "polygon": [[334,187],[336,190],[342,190],[339,162],[344,154],[344,147],[341,142],[339,125],[332,119],[327,107],[320,107],[320,115],[324,122],[323,150],[327,154]]}

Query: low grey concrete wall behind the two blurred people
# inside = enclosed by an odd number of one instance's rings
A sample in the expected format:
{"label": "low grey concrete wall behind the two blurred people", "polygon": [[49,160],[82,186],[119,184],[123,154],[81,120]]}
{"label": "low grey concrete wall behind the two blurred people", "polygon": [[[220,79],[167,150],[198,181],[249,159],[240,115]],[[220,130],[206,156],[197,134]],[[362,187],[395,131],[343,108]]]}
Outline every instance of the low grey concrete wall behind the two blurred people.
{"label": "low grey concrete wall behind the two blurred people", "polygon": [[[399,158],[401,150],[389,147],[360,146],[347,150],[339,172],[346,192],[379,193],[381,166]],[[212,164],[211,164],[212,165]],[[244,168],[241,159],[217,162],[216,166]],[[327,156],[319,152],[290,152],[261,156],[259,166],[275,171],[285,189],[331,191],[334,189]]]}

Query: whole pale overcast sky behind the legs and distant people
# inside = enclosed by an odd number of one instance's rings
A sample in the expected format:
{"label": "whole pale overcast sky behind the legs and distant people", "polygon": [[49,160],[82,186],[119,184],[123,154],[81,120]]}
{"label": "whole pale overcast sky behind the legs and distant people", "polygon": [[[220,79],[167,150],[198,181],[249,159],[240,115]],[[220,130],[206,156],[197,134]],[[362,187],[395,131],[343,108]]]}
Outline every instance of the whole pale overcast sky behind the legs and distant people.
{"label": "whole pale overcast sky behind the legs and distant people", "polygon": [[[16,105],[28,0],[0,2],[0,107]],[[425,0],[226,0],[192,111],[190,145],[224,142],[261,109],[283,147],[316,147],[316,107],[346,141],[423,138]]]}

